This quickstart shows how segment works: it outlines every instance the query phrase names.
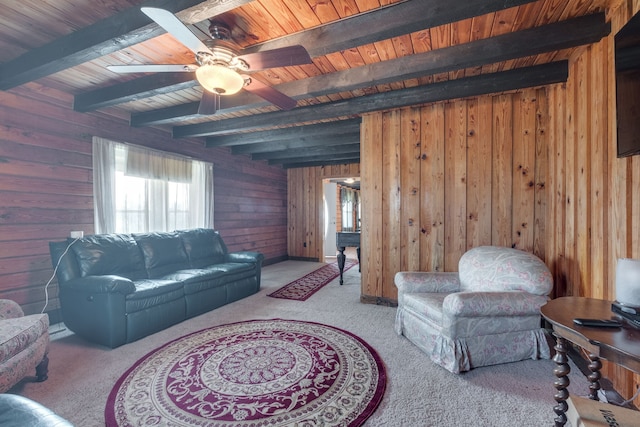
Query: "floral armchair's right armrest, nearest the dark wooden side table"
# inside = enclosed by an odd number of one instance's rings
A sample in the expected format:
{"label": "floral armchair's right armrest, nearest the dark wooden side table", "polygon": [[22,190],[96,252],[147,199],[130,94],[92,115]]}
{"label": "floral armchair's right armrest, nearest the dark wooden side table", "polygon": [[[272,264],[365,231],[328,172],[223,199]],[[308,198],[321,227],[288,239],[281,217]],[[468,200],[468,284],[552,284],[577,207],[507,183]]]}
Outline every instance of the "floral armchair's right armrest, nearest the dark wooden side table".
{"label": "floral armchair's right armrest, nearest the dark wooden side table", "polygon": [[540,314],[547,297],[527,292],[458,292],[442,302],[443,313],[457,317],[522,316]]}

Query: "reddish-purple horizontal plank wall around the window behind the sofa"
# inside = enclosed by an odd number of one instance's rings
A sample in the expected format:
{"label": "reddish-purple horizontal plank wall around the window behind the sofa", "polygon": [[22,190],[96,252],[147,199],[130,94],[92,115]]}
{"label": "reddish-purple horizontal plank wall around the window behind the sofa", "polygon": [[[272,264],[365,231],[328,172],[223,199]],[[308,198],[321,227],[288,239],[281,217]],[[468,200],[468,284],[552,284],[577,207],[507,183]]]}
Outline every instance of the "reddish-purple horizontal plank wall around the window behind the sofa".
{"label": "reddish-purple horizontal plank wall around the window behind the sofa", "polygon": [[[42,310],[53,273],[48,242],[71,230],[93,233],[94,135],[212,162],[215,227],[229,249],[260,251],[267,262],[286,259],[286,171],[205,148],[201,140],[77,113],[72,101],[37,84],[0,91],[0,298]],[[58,307],[56,296],[54,280],[47,311]]]}

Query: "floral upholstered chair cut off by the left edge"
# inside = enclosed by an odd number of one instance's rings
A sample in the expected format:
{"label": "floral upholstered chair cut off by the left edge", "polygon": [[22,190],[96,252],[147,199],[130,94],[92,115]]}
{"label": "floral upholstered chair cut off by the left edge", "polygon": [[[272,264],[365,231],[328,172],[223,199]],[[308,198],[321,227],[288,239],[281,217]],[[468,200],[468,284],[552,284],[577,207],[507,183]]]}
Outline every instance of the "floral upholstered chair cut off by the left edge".
{"label": "floral upholstered chair cut off by the left edge", "polygon": [[0,299],[0,393],[29,374],[47,379],[49,316],[24,315],[15,301]]}

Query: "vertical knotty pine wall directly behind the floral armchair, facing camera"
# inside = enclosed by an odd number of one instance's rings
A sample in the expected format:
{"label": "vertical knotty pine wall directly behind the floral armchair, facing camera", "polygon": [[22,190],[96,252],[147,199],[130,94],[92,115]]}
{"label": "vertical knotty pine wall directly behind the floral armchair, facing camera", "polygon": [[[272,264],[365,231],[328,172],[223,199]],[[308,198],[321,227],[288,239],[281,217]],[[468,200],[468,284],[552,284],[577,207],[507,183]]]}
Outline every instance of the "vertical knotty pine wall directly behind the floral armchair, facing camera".
{"label": "vertical knotty pine wall directly behind the floral armchair, facing camera", "polygon": [[362,295],[394,303],[398,271],[457,271],[469,248],[545,258],[544,89],[364,117]]}

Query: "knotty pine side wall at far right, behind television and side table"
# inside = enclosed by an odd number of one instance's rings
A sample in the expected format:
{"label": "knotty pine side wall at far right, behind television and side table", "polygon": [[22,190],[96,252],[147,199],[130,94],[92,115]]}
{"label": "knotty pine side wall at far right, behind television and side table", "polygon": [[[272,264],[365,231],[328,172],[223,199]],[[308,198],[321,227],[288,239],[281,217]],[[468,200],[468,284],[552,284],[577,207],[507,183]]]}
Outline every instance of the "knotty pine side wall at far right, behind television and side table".
{"label": "knotty pine side wall at far right, behind television and side table", "polygon": [[[556,295],[613,300],[618,258],[640,258],[640,157],[616,157],[613,41],[640,2],[619,3],[611,36],[572,58],[567,84],[549,90],[545,246]],[[603,375],[625,398],[640,386],[640,376],[613,364]]]}

